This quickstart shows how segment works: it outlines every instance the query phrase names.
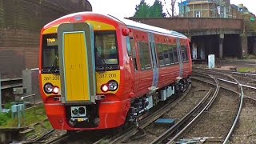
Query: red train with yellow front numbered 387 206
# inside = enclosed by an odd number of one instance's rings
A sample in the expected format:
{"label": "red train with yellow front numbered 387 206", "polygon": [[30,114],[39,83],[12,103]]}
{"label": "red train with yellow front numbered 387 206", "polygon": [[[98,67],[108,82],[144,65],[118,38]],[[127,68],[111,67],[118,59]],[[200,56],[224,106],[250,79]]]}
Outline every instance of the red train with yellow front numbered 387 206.
{"label": "red train with yellow front numbered 387 206", "polygon": [[39,88],[57,130],[138,125],[190,84],[190,39],[126,18],[79,12],[42,27]]}

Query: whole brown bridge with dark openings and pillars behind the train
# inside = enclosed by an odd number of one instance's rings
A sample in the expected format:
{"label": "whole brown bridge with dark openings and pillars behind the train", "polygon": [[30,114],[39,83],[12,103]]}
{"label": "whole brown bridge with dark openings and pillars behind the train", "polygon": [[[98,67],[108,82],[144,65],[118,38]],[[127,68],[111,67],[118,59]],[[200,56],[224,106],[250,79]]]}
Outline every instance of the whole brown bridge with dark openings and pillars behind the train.
{"label": "whole brown bridge with dark openings and pillars behind the train", "polygon": [[[152,26],[175,30],[191,39],[194,59],[215,54],[218,58],[256,54],[255,31],[242,19],[231,18],[129,18]],[[247,29],[246,29],[247,28]]]}

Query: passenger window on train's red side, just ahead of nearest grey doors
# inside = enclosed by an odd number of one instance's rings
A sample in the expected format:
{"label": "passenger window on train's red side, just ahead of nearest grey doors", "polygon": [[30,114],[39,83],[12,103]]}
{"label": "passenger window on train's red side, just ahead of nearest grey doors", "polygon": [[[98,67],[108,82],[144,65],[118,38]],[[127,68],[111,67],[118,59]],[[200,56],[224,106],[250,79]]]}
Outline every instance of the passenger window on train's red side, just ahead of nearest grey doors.
{"label": "passenger window on train's red side, just ahead of nearest grey doors", "polygon": [[149,44],[147,42],[138,42],[139,60],[142,70],[151,69],[151,58]]}

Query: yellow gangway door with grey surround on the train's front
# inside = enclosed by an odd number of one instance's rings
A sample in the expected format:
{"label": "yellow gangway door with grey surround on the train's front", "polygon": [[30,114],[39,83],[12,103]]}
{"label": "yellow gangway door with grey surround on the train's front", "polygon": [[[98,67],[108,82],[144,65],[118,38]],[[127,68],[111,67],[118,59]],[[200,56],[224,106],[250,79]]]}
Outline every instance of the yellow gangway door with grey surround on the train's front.
{"label": "yellow gangway door with grey surround on the train's front", "polygon": [[93,30],[85,22],[58,26],[62,103],[95,102]]}

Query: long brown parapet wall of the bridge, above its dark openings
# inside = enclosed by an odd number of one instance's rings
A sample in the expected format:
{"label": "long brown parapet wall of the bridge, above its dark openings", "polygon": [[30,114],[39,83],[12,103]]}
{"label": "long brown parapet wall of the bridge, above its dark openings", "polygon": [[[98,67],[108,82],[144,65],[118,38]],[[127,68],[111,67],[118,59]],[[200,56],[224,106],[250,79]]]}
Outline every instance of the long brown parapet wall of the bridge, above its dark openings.
{"label": "long brown parapet wall of the bridge, above its dark openings", "polygon": [[239,34],[242,33],[242,19],[230,18],[129,18],[137,22],[176,30],[183,34]]}

